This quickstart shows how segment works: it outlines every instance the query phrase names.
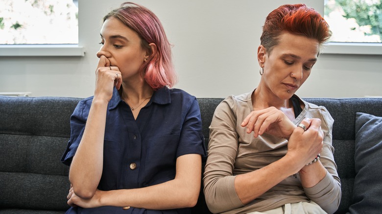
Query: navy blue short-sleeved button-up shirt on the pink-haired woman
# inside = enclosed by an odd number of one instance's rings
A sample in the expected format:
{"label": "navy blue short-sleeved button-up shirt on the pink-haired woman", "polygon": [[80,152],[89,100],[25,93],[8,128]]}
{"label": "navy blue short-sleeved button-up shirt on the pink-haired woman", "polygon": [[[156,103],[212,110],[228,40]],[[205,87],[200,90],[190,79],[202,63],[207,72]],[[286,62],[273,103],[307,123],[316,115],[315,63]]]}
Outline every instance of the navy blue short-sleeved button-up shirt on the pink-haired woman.
{"label": "navy blue short-sleeved button-up shirt on the pink-haired woman", "polygon": [[[80,101],[71,116],[71,138],[61,161],[70,165],[81,141],[93,97]],[[106,114],[103,171],[99,190],[135,189],[175,178],[176,158],[206,155],[197,100],[180,89],[163,87],[134,119],[114,88]],[[190,209],[152,211],[120,207],[71,208],[68,213],[173,214]]]}

